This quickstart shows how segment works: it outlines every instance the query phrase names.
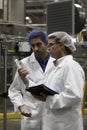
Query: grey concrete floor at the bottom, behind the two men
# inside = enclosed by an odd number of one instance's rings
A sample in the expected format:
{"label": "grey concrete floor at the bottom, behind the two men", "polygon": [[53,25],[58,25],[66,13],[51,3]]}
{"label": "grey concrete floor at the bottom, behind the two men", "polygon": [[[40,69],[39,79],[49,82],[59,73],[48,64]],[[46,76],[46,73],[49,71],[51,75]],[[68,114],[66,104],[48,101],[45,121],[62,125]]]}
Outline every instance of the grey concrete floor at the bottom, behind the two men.
{"label": "grey concrete floor at the bottom, behind the two men", "polygon": [[[84,115],[84,130],[87,130],[87,115]],[[3,120],[0,120],[0,130],[5,130],[3,127]],[[20,119],[9,119],[7,120],[6,130],[20,130]]]}

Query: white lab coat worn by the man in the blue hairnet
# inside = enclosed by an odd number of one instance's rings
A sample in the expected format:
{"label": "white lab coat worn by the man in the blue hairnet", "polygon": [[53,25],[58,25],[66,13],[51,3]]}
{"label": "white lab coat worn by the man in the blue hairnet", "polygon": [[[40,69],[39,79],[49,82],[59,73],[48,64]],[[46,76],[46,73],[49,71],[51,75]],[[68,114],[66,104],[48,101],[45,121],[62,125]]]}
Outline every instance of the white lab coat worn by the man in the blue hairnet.
{"label": "white lab coat worn by the man in the blue hairnet", "polygon": [[[50,57],[46,66],[45,72],[41,69],[39,63],[36,61],[34,53],[31,56],[22,60],[24,66],[29,70],[29,86],[44,83],[45,78],[52,70],[54,59]],[[25,85],[20,79],[18,72],[16,72],[13,83],[9,90],[9,98],[14,104],[15,112],[18,110],[18,106],[25,105],[26,111],[32,114],[31,118],[22,116],[21,130],[41,130],[41,116],[42,116],[42,103],[34,98],[29,92],[25,91]]]}

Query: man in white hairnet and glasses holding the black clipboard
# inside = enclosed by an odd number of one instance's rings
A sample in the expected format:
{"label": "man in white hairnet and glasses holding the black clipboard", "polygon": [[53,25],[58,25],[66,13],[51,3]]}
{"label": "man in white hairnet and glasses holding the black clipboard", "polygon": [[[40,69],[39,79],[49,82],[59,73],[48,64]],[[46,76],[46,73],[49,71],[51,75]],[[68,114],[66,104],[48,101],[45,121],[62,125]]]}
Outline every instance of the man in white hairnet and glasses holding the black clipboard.
{"label": "man in white hairnet and glasses holding the black clipboard", "polygon": [[48,48],[56,60],[45,85],[59,94],[34,95],[46,103],[43,130],[83,130],[81,104],[85,75],[73,59],[75,45],[67,33],[55,32],[48,36]]}

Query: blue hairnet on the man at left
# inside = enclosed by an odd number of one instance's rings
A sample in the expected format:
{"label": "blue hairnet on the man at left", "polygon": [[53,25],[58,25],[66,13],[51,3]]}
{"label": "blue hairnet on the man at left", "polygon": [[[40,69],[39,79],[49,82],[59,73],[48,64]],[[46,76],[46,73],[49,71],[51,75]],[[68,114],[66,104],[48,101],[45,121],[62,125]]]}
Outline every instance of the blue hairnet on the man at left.
{"label": "blue hairnet on the man at left", "polygon": [[34,38],[40,38],[41,41],[43,41],[46,45],[48,44],[48,37],[43,31],[33,30],[32,32],[30,32],[30,34],[28,36],[29,44],[30,44],[30,41]]}

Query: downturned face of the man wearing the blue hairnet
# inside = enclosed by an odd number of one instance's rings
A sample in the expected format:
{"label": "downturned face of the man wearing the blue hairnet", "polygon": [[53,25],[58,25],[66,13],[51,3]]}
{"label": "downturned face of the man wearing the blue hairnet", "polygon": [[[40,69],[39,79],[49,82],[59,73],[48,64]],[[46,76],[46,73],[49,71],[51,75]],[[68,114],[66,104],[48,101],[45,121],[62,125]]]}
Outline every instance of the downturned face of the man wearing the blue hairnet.
{"label": "downturned face of the man wearing the blue hairnet", "polygon": [[47,53],[47,47],[40,38],[34,38],[31,40],[32,50],[37,58],[43,57]]}

